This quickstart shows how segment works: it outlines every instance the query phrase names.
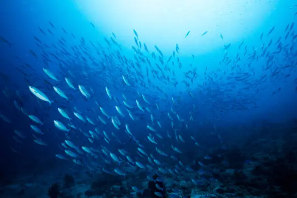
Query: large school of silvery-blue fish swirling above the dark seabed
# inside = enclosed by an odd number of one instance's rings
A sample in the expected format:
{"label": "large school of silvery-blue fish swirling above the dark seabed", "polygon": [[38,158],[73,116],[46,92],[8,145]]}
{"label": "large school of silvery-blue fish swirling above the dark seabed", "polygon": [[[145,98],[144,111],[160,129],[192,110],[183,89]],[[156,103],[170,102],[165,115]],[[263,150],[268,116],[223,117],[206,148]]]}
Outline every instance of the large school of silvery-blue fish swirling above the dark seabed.
{"label": "large school of silvery-blue fish swirling above the dark seabed", "polygon": [[[90,25],[95,31],[96,26]],[[184,66],[178,44],[171,54],[165,54],[157,45],[147,46],[136,30],[132,30],[130,58],[115,33],[99,43],[68,33],[50,21],[43,26],[38,27],[41,36],[33,35],[38,49],[28,49],[39,67],[32,66],[35,63],[15,67],[27,84],[27,92],[12,90],[9,83],[2,90],[14,108],[30,120],[28,130],[32,134],[14,126],[12,138],[23,145],[29,138],[50,149],[55,145],[47,139],[56,137],[61,152],[55,156],[90,171],[123,177],[136,169],[160,176],[191,172],[191,164],[182,162],[180,156],[190,144],[197,149],[201,146],[195,133],[188,135],[185,131],[198,131],[199,126],[211,123],[211,118],[219,119],[227,112],[257,108],[258,95],[270,83],[276,84],[271,95],[281,92],[278,84],[283,82],[295,84],[293,91],[297,92],[297,78],[291,76],[297,65],[294,22],[276,24],[259,35],[259,46],[245,41],[236,46],[224,43],[220,69],[212,71],[204,66],[203,73],[198,72],[202,66],[196,64],[194,54],[190,66]],[[271,35],[276,29],[283,32],[274,40]],[[207,39],[209,33],[211,30],[198,36]],[[193,34],[188,31],[184,39]],[[219,36],[224,41],[223,35]],[[50,37],[55,42],[39,37]],[[67,39],[76,40],[77,45],[68,45]],[[15,46],[2,36],[0,40],[9,48]],[[235,56],[229,54],[231,48],[237,48]],[[22,62],[19,56],[15,58]],[[44,75],[39,75],[41,72]],[[182,75],[176,76],[176,72]],[[6,74],[1,73],[1,78],[9,82]],[[27,110],[26,103],[35,111]],[[202,106],[206,116],[201,118]],[[43,114],[47,112],[56,116],[46,119]],[[13,124],[13,119],[3,113],[0,118]],[[220,134],[215,137],[225,147]],[[211,158],[205,154],[204,159]],[[203,167],[202,175],[207,167],[198,163]],[[153,180],[149,174],[148,179]],[[137,187],[133,190],[139,191]],[[157,196],[162,197],[160,193]]]}

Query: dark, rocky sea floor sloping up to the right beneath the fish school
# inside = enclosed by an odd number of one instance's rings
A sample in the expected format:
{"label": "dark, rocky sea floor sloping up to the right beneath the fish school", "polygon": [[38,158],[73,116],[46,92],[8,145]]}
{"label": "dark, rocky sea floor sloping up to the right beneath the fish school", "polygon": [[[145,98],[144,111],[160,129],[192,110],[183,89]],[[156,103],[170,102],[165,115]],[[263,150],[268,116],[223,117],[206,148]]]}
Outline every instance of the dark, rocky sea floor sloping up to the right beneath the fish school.
{"label": "dark, rocky sea floor sloping up to the right beneath the fish school", "polygon": [[[245,141],[231,144],[223,152],[214,149],[224,160],[213,158],[205,164],[211,170],[203,176],[207,180],[201,180],[199,164],[191,166],[193,172],[164,175],[160,183],[164,197],[297,198],[297,121],[270,125],[242,139]],[[201,161],[203,156],[193,159]],[[148,181],[147,175],[139,169],[123,177],[78,168],[15,178],[1,176],[0,198],[158,198],[155,182]],[[135,193],[132,186],[142,193]]]}

